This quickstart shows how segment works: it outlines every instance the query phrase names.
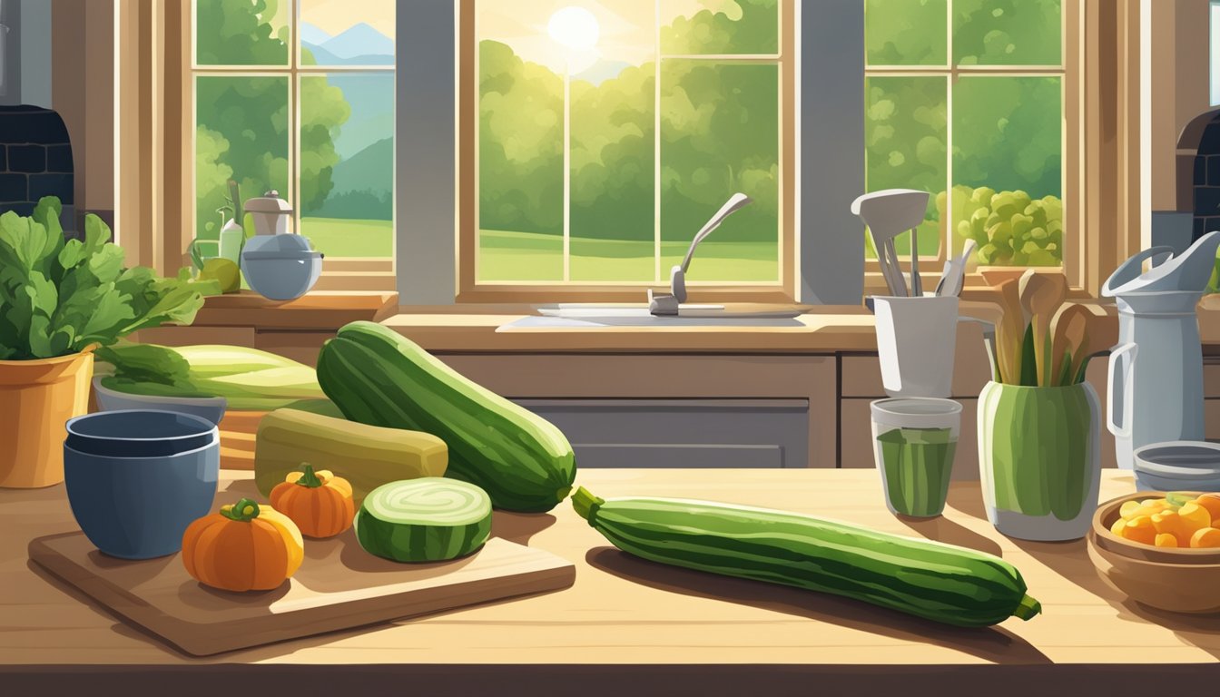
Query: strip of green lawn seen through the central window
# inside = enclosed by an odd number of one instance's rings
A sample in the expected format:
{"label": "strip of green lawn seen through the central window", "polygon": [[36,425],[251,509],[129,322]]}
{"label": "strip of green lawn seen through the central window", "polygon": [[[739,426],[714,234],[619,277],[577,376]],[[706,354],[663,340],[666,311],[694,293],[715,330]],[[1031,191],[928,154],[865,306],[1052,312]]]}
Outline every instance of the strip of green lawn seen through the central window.
{"label": "strip of green lawn seen through the central window", "polygon": [[[661,282],[682,262],[688,242],[661,242]],[[654,282],[653,242],[571,239],[572,281]],[[699,244],[687,278],[697,281],[776,281],[778,244],[712,242]],[[479,231],[478,280],[562,281],[564,238],[532,232]]]}

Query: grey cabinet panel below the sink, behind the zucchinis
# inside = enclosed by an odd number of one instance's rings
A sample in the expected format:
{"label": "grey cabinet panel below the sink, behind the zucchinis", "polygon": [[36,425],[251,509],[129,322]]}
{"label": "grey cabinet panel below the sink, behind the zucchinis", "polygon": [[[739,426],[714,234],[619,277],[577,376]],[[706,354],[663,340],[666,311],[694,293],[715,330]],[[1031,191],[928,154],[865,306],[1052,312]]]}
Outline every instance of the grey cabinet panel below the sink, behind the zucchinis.
{"label": "grey cabinet panel below the sink, behind the zucchinis", "polygon": [[515,399],[559,426],[578,468],[804,468],[805,399]]}

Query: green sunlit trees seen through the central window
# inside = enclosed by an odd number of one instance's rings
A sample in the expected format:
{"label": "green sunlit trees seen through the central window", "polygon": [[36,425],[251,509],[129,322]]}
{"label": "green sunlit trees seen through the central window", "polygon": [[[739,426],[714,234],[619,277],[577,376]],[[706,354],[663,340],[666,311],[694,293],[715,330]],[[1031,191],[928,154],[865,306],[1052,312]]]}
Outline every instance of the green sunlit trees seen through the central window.
{"label": "green sunlit trees seen through the central window", "polygon": [[[664,50],[775,52],[776,0],[739,0],[734,6],[734,13],[700,11],[662,27]],[[489,39],[479,42],[479,227],[559,236],[562,76]],[[660,74],[662,240],[689,242],[728,195],[741,190],[755,203],[728,218],[716,239],[773,245],[780,199],[776,66],[666,59]],[[654,237],[655,81],[655,63],[644,62],[598,84],[571,83],[573,251],[583,239]],[[590,254],[609,249],[583,247]],[[650,262],[639,267],[651,278]]]}

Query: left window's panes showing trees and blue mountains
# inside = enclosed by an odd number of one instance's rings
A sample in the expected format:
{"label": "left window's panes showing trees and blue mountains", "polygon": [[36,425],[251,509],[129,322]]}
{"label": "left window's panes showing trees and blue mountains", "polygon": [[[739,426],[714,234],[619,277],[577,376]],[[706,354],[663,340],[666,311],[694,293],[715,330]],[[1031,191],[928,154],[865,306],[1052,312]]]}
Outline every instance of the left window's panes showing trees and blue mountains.
{"label": "left window's panes showing trees and blue mountains", "polygon": [[394,0],[196,0],[193,18],[195,236],[216,239],[229,179],[276,189],[327,275],[393,288]]}

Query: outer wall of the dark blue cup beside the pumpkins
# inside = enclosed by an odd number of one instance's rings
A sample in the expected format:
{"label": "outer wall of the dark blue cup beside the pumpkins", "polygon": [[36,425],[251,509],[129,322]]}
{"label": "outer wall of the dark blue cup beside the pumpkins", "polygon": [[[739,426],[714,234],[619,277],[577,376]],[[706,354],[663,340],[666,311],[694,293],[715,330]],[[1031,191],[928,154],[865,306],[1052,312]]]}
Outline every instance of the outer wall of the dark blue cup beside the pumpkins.
{"label": "outer wall of the dark blue cup beside the pumpkins", "polygon": [[111,557],[151,559],[182,549],[182,535],[211,513],[220,437],[167,457],[109,458],[63,447],[72,515],[89,542]]}

